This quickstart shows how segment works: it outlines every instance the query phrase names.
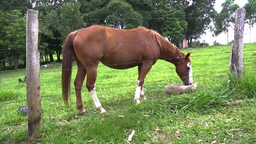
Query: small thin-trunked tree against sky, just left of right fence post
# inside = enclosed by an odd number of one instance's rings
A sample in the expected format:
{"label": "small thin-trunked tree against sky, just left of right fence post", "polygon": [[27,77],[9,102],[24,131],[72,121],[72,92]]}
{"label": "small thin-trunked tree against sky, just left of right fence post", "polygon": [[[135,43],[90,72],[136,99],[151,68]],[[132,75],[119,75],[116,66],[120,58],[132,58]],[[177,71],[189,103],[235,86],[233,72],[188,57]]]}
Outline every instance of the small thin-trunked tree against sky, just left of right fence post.
{"label": "small thin-trunked tree against sky, just left of right fence post", "polygon": [[214,24],[214,34],[219,35],[220,33],[225,32],[228,34],[228,40],[229,27],[231,26],[231,23],[235,22],[235,11],[239,8],[237,4],[234,4],[234,1],[235,0],[226,0],[222,3],[222,11],[217,14],[216,22]]}

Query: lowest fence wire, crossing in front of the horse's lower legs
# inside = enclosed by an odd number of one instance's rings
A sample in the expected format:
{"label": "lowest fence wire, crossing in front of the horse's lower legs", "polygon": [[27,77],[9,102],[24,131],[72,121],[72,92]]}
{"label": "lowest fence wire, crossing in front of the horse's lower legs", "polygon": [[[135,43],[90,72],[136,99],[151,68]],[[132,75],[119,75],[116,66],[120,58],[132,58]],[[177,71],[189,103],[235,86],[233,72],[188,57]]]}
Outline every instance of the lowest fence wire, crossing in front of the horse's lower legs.
{"label": "lowest fence wire, crossing in front of the horse's lower legs", "polygon": [[[251,69],[255,69],[255,68],[247,68],[247,71],[254,71]],[[206,73],[206,74],[200,74],[200,75],[194,75],[193,77],[197,77],[197,76],[205,76],[205,75],[216,75],[216,74],[224,74],[224,73],[229,73],[228,70],[225,71],[219,71],[217,73]],[[165,79],[165,80],[157,80],[157,81],[146,81],[144,82],[143,85],[147,85],[148,83],[154,83],[154,82],[164,82],[164,81],[170,81],[170,80],[180,80],[180,77],[174,78],[174,79]],[[129,86],[135,86],[134,83],[132,84],[128,84],[128,85],[119,85],[119,86],[113,86],[113,87],[100,87],[97,89],[113,89],[113,88],[120,88],[120,87],[129,87]],[[79,92],[70,92],[70,94],[74,94],[74,93],[81,93],[81,92],[87,92],[87,91],[79,91]],[[45,91],[40,92],[40,93],[46,93]],[[54,97],[54,96],[58,96],[58,95],[62,95],[62,94],[49,94],[49,95],[43,95],[41,96],[41,98],[48,98],[48,97]],[[22,99],[22,100],[16,100],[16,101],[10,101],[8,103],[2,103],[0,105],[7,105],[7,104],[13,104],[13,103],[19,103],[22,101],[26,101],[27,99]]]}

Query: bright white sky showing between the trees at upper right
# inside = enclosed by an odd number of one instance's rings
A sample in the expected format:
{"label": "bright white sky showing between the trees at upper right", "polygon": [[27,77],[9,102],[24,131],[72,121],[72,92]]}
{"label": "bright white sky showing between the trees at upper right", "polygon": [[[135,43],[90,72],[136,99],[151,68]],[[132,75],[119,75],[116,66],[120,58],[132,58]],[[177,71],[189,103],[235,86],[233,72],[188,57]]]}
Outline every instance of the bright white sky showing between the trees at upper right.
{"label": "bright white sky showing between the trees at upper right", "polygon": [[[216,3],[214,5],[214,9],[219,13],[222,10],[221,4],[224,3],[225,0],[216,0]],[[235,0],[236,4],[238,4],[241,7],[243,7],[247,0]],[[234,40],[234,26],[229,28],[229,40],[227,37],[227,33],[221,33],[217,37],[212,37],[212,33],[210,31],[206,31],[205,35],[201,36],[201,39],[199,39],[201,42],[203,40],[206,41],[206,43],[213,45],[213,41],[217,41],[218,43],[225,45],[228,43],[228,41]],[[243,43],[256,43],[256,25],[251,28],[251,40],[250,40],[250,31],[249,31],[249,25],[245,24],[245,29],[243,32]]]}

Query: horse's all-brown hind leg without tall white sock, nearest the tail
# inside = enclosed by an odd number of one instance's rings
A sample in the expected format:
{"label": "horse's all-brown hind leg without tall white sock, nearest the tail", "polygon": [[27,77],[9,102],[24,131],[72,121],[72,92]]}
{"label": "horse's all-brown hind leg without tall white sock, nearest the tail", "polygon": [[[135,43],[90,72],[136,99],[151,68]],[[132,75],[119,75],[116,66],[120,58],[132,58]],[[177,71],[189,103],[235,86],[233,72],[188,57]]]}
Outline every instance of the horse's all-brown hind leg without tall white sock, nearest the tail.
{"label": "horse's all-brown hind leg without tall white sock, nearest the tail", "polygon": [[77,108],[80,110],[81,114],[84,114],[85,110],[84,110],[83,102],[81,98],[81,89],[83,86],[86,71],[83,65],[79,61],[77,61],[77,67],[78,67],[77,76],[75,77],[75,81],[74,81],[75,94],[77,96]]}

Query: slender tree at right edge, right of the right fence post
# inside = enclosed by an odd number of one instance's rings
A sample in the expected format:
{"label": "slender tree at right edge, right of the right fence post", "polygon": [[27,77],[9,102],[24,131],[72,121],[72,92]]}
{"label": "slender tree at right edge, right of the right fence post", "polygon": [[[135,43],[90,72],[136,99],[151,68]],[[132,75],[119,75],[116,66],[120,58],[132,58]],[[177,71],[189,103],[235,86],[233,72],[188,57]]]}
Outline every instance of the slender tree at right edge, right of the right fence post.
{"label": "slender tree at right edge, right of the right fence post", "polygon": [[256,0],[248,0],[243,8],[246,10],[246,23],[249,25],[251,43],[251,28],[256,22]]}

